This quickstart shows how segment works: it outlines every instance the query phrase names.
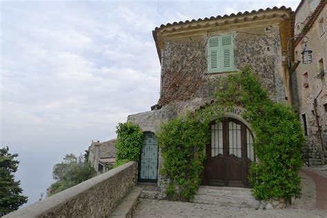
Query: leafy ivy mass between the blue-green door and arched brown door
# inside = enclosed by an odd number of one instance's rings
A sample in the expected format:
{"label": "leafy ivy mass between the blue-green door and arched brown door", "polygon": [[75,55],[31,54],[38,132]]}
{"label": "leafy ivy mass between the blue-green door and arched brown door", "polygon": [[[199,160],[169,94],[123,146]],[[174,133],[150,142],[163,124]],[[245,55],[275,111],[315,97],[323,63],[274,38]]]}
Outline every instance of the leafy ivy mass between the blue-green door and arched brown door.
{"label": "leafy ivy mass between the blue-green door and arched brown door", "polygon": [[167,194],[171,199],[187,201],[201,184],[204,172],[204,150],[208,143],[207,123],[196,115],[185,115],[163,123],[157,139],[164,158],[161,174],[168,178]]}

